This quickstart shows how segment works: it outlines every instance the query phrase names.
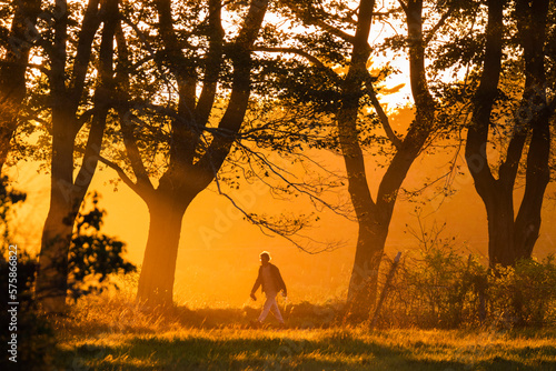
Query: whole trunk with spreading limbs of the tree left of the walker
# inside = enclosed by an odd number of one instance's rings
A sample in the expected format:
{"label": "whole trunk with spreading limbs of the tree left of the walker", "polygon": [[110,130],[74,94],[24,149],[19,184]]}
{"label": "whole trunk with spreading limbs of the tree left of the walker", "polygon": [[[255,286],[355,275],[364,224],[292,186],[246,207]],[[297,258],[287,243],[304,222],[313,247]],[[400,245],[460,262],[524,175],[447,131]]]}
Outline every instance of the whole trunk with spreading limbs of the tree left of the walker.
{"label": "whole trunk with spreading limbs of the tree left of the walker", "polygon": [[[119,167],[120,177],[148,204],[150,227],[145,250],[137,300],[149,305],[172,304],[173,280],[181,221],[191,200],[216,177],[226,157],[229,154],[236,133],[244,123],[251,91],[251,48],[258,37],[268,0],[252,0],[244,24],[239,30],[230,52],[234,76],[228,107],[214,133],[208,148],[202,138],[202,127],[209,122],[212,102],[216,100],[217,78],[222,60],[222,38],[220,11],[221,2],[209,1],[210,48],[205,71],[205,81],[199,98],[197,69],[191,69],[189,59],[181,50],[181,39],[173,27],[172,2],[158,1],[160,37],[163,53],[171,59],[170,71],[178,83],[178,116],[171,122],[171,141],[168,169],[160,178],[157,189],[152,186],[132,127],[127,124],[126,112],[120,113],[125,146],[137,182],[129,179]],[[125,49],[125,39],[120,39]],[[231,48],[234,47],[234,48]],[[125,61],[122,59],[122,61]],[[126,61],[125,61],[126,62]],[[129,77],[122,74],[125,84]],[[126,96],[123,93],[123,96]],[[196,103],[197,102],[197,103]],[[198,126],[191,126],[191,119]],[[199,130],[201,129],[201,130]],[[199,156],[199,152],[203,152]]]}

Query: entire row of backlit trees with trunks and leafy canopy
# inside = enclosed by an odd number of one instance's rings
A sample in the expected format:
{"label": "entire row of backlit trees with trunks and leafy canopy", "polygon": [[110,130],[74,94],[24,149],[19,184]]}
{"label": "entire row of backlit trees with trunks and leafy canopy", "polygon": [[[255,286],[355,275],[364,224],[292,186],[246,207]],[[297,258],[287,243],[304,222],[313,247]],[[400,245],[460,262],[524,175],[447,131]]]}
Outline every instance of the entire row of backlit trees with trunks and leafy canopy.
{"label": "entire row of backlit trees with trunks and leafy canopy", "polygon": [[[306,158],[305,149],[317,148],[342,156],[359,225],[348,292],[354,312],[368,313],[374,303],[394,207],[411,164],[454,132],[465,137],[468,169],[486,207],[490,264],[530,257],[550,180],[554,1],[398,0],[378,7],[375,0],[4,6],[1,164],[10,140],[21,140],[34,123],[51,142],[50,210],[36,289],[43,308],[63,310],[70,238],[99,161],[148,205],[138,299],[152,304],[172,302],[182,217],[199,192],[214,182],[222,191],[238,173],[288,182],[269,151]],[[380,24],[394,26],[396,34],[370,43]],[[403,132],[379,103],[384,78],[394,73],[377,68],[381,52],[407,56],[415,118]],[[487,151],[492,146],[496,158]],[[366,151],[385,154],[380,179],[367,176]],[[518,182],[525,192],[515,212]],[[319,193],[322,187],[288,186],[334,208]],[[227,195],[234,202],[234,193]],[[288,238],[304,225],[277,225],[242,211]]]}

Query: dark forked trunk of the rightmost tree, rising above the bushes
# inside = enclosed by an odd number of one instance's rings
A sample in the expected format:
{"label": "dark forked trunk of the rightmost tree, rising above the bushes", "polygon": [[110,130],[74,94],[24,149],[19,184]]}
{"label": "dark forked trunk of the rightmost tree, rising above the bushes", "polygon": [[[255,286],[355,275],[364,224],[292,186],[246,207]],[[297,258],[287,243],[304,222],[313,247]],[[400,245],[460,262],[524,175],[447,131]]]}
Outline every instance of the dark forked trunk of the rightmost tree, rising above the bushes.
{"label": "dark forked trunk of the rightmost tree, rising above the bushes", "polygon": [[[517,2],[519,38],[524,48],[525,91],[515,116],[515,132],[509,141],[505,161],[495,179],[488,163],[486,147],[490,117],[498,96],[503,58],[503,14],[505,0],[488,1],[487,42],[483,76],[475,94],[473,126],[468,129],[466,159],[483,199],[488,218],[488,257],[490,267],[514,265],[532,257],[540,229],[540,210],[549,181],[550,114],[546,103],[544,43],[548,2]],[[526,139],[527,149],[525,193],[517,215],[514,212],[514,186]]]}

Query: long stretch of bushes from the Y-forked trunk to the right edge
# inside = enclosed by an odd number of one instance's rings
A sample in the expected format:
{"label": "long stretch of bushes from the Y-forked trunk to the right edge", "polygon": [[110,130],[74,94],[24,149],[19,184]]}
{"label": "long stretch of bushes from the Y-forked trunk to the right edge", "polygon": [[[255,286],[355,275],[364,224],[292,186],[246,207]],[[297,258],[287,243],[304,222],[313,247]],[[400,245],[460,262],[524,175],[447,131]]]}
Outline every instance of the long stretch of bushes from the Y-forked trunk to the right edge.
{"label": "long stretch of bushes from the Y-forked trunk to the right edge", "polygon": [[481,323],[556,323],[555,258],[488,269],[477,257],[466,258],[449,247],[410,252],[398,267],[378,321],[383,327],[420,328]]}

